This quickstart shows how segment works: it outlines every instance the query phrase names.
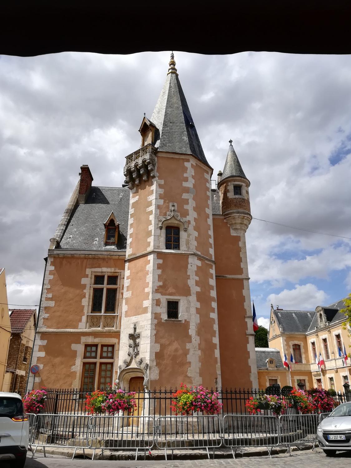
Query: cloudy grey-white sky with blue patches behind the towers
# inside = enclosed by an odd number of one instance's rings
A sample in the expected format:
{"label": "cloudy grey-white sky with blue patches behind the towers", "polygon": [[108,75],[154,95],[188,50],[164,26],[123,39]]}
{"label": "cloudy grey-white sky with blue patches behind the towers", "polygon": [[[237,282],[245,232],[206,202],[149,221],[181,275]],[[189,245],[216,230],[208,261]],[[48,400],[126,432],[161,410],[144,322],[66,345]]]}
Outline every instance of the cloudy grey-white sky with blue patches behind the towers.
{"label": "cloudy grey-white sky with blue patches behind the towers", "polygon": [[[251,181],[254,218],[351,238],[351,56],[175,52],[179,78],[214,176],[228,140]],[[8,301],[36,305],[44,256],[88,164],[120,186],[139,147],[169,52],[0,57],[0,267]],[[314,310],[351,291],[351,241],[253,219],[251,295]],[[265,317],[265,319],[264,319]]]}

